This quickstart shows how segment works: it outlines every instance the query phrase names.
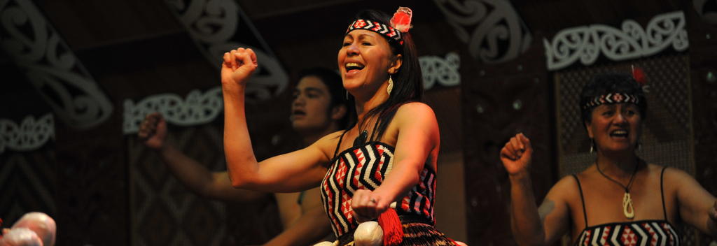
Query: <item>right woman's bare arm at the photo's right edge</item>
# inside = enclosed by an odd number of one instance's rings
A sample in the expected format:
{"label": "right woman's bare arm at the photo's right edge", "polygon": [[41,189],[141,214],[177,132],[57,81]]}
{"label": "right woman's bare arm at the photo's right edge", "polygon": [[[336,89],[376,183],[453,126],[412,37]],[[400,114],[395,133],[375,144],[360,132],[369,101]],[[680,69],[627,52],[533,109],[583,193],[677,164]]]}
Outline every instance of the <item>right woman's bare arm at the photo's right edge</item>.
{"label": "right woman's bare arm at the photo's right edge", "polygon": [[704,233],[717,237],[717,199],[690,174],[665,170],[665,184],[677,184],[676,196],[682,220]]}

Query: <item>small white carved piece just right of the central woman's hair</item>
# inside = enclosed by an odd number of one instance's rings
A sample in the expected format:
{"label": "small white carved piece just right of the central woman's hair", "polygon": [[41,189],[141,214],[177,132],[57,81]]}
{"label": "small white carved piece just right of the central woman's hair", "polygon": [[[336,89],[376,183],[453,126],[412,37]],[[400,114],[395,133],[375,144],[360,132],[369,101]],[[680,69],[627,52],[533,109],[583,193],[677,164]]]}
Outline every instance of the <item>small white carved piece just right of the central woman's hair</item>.
{"label": "small white carved piece just right of the central woman's hair", "polygon": [[455,52],[446,54],[445,59],[440,56],[421,56],[423,74],[423,89],[431,89],[436,83],[444,87],[453,87],[460,84],[460,56]]}

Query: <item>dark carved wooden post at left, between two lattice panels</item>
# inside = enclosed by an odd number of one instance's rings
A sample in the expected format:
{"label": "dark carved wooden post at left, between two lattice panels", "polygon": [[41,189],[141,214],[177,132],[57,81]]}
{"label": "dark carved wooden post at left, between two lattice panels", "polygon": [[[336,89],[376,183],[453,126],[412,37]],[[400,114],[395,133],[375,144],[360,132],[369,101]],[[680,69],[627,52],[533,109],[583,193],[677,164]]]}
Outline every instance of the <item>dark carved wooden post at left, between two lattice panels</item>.
{"label": "dark carved wooden post at left, between two lattice panels", "polygon": [[119,130],[111,123],[82,132],[57,124],[57,245],[129,244],[123,139],[108,134]]}

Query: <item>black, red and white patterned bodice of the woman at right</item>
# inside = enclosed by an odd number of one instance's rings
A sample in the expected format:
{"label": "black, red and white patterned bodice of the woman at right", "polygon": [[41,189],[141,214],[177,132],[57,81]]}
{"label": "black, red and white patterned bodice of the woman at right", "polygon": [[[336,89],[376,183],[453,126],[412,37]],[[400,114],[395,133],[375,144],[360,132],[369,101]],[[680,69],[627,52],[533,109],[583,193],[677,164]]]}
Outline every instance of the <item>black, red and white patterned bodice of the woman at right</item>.
{"label": "black, red and white patterned bodice of the woman at right", "polygon": [[587,227],[575,245],[680,245],[673,226],[665,220],[641,220]]}

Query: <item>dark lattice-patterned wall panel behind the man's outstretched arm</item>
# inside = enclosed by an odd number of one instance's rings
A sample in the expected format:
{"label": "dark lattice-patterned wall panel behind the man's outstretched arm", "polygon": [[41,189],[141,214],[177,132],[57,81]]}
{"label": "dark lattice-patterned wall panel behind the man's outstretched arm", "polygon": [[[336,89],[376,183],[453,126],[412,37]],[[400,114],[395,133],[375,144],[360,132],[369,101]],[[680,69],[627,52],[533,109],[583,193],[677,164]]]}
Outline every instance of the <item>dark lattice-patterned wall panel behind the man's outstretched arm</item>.
{"label": "dark lattice-patterned wall panel behind the man's outstretched arm", "polygon": [[[221,129],[174,129],[168,140],[206,168],[222,171]],[[271,195],[240,205],[208,200],[187,190],[136,137],[128,137],[128,154],[133,245],[257,245],[281,231]]]}

